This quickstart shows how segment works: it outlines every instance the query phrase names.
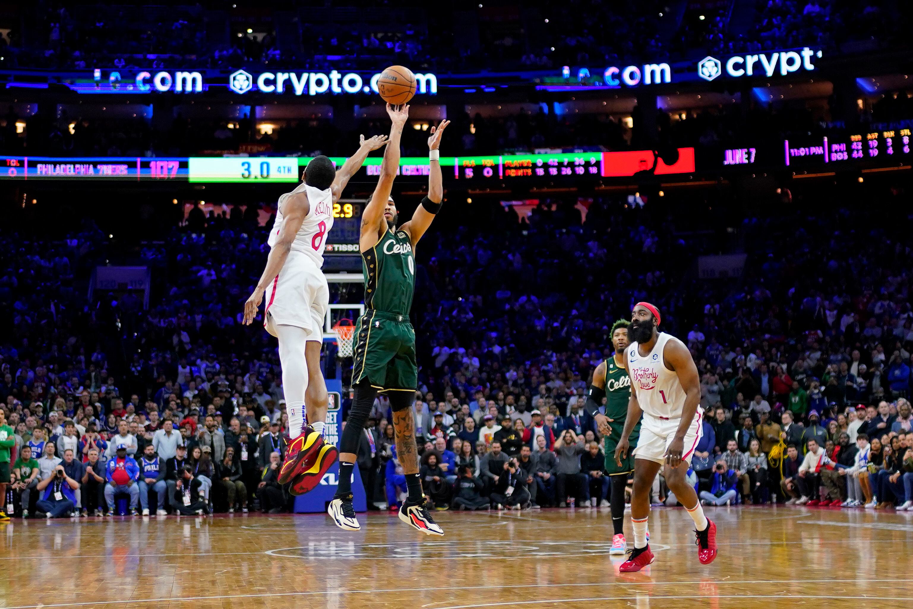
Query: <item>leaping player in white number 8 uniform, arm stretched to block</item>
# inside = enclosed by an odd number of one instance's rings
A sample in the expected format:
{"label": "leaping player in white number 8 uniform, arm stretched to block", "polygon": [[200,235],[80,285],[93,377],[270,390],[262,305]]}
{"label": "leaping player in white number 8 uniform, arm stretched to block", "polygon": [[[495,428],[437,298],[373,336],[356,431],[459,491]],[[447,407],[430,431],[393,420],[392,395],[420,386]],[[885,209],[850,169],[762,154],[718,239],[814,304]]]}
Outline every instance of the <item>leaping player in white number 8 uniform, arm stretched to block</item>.
{"label": "leaping player in white number 8 uniform, arm stretched to block", "polygon": [[269,231],[267,268],[244,305],[244,322],[250,325],[269,289],[263,325],[279,341],[289,413],[289,449],[278,481],[292,481],[289,492],[293,495],[316,487],[337,455],[336,446],[323,441],[328,397],[320,373],[323,320],[330,303],[330,289],[320,268],[326,236],[333,226],[333,204],[368,152],[385,143],[385,135],[367,140],[362,135],[358,152],[339,172],[326,156],[308,163],[304,182],[279,197],[276,224]]}

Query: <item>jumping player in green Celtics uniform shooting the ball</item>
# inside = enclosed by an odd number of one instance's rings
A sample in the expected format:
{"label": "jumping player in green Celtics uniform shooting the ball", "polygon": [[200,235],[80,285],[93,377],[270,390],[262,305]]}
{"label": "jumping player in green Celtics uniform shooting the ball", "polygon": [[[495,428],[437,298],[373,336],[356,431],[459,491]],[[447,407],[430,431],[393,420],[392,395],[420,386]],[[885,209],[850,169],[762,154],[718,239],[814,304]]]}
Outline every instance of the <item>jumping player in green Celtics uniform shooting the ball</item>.
{"label": "jumping player in green Celtics uniform shooting the ball", "polygon": [[444,185],[441,178],[441,135],[449,121],[432,127],[428,138],[431,165],[428,195],[415,209],[412,219],[396,228],[396,205],[390,197],[399,169],[400,136],[409,107],[399,110],[387,104],[393,120],[390,144],[383,154],[381,178],[362,214],[362,250],[364,272],[364,315],[355,324],[356,345],[352,362],[354,399],[340,440],[340,483],[327,512],[344,530],[360,530],[352,508],[352,468],[362,427],[379,392],[390,397],[394,413],[396,454],[403,466],[408,497],[400,508],[399,518],[428,535],[444,531],[425,509],[425,495],[418,474],[418,450],[415,446],[415,387],[418,367],[415,362],[415,331],[409,322],[409,310],[415,292],[415,244],[422,238],[441,208]]}

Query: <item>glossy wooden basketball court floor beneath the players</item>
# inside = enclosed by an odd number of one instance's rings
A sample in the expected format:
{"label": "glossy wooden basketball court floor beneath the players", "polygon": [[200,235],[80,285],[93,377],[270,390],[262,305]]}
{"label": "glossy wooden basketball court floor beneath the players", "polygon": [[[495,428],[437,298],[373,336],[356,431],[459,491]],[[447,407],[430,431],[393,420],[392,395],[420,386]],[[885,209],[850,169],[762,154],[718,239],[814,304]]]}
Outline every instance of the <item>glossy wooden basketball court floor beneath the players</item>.
{"label": "glossy wooden basketball court floor beneath the players", "polygon": [[716,562],[698,562],[683,509],[655,509],[656,562],[638,573],[608,555],[608,509],[437,512],[443,538],[385,513],[357,533],[321,515],[14,520],[0,607],[913,606],[913,513],[707,513]]}

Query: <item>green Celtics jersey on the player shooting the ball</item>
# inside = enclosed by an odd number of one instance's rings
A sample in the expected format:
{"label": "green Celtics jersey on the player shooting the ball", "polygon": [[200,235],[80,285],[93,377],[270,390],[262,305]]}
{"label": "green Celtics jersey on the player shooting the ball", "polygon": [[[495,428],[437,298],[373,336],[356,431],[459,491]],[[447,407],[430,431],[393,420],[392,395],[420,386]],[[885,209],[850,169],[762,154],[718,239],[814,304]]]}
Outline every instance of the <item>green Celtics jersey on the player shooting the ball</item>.
{"label": "green Celtics jersey on the player shooting the ball", "polygon": [[409,235],[388,230],[377,245],[362,252],[364,305],[394,315],[409,315],[415,294],[415,257]]}

